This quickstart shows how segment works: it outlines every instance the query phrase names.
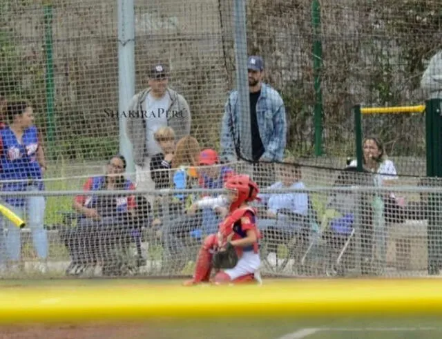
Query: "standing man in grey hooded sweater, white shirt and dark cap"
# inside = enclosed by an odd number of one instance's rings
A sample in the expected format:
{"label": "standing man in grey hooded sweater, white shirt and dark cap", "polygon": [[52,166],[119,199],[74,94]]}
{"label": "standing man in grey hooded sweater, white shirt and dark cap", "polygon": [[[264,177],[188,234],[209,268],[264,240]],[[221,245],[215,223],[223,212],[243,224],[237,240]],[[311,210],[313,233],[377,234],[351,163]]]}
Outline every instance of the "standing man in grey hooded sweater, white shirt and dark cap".
{"label": "standing man in grey hooded sweater, white shirt and dark cap", "polygon": [[189,135],[191,112],[186,99],[169,88],[168,72],[162,64],[155,65],[149,74],[149,87],[133,96],[127,112],[127,135],[133,146],[138,190],[153,191],[151,157],[161,153],[154,134],[162,126],[175,131],[176,140]]}

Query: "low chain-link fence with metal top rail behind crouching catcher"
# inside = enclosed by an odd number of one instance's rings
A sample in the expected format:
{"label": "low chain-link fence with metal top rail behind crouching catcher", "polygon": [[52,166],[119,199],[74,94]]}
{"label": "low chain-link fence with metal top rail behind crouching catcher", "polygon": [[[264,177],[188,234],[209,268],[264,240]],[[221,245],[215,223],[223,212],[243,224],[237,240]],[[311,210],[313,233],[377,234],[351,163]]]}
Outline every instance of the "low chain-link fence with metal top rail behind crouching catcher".
{"label": "low chain-link fence with metal top rail behind crouching catcher", "polygon": [[[259,180],[249,164],[201,167],[202,180],[194,188],[156,191],[149,201],[130,180],[115,175],[117,166],[113,158],[104,175],[78,178],[76,191],[3,193],[2,206],[26,226],[19,229],[2,213],[1,276],[190,276],[204,240],[229,214],[222,188],[226,177],[245,173]],[[252,205],[262,235],[260,273],[439,274],[440,182],[395,180],[396,186],[381,188],[376,174],[354,167],[319,171],[278,165],[275,182],[262,188],[260,201]]]}

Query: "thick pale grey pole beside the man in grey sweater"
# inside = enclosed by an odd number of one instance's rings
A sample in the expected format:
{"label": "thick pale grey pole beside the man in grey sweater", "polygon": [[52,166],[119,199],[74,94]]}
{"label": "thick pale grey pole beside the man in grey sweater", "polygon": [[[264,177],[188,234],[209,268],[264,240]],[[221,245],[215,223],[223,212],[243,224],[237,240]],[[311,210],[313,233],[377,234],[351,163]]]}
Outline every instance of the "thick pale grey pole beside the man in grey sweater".
{"label": "thick pale grey pole beside the man in grey sweater", "polygon": [[135,95],[135,8],[133,0],[117,2],[119,152],[126,158],[127,173],[135,180],[132,145],[126,135],[126,117],[122,114]]}

